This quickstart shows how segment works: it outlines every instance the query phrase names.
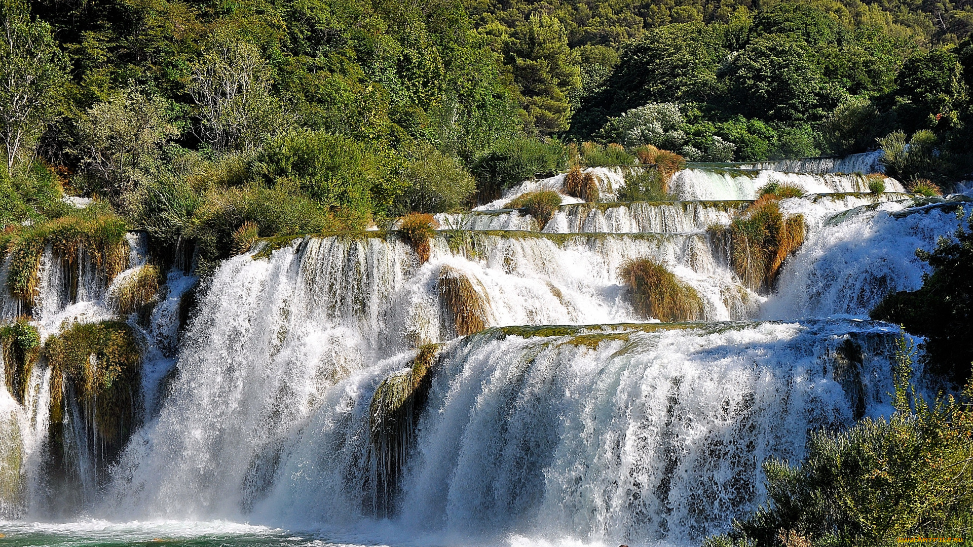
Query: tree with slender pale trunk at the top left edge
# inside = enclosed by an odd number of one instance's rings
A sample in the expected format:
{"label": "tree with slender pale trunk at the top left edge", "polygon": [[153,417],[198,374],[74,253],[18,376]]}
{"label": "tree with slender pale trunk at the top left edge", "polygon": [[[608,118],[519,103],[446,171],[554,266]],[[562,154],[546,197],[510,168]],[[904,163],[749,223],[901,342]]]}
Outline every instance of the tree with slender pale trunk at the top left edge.
{"label": "tree with slender pale trunk at the top left edge", "polygon": [[51,36],[51,25],[31,20],[22,0],[0,0],[0,138],[8,171],[32,156],[37,138],[55,117],[55,101],[68,62]]}

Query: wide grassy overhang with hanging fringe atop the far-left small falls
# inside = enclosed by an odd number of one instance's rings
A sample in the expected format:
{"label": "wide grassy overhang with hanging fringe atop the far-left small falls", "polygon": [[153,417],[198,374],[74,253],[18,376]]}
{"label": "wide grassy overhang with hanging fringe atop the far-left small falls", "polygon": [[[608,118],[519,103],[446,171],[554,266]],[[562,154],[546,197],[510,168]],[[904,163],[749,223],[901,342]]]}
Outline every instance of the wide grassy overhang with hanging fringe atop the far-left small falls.
{"label": "wide grassy overhang with hanging fringe atop the far-left small falls", "polygon": [[33,226],[20,227],[7,234],[10,255],[7,288],[24,302],[37,294],[38,269],[44,249],[51,245],[56,257],[73,270],[81,252],[93,261],[105,282],[126,269],[126,222],[98,206],[76,211]]}

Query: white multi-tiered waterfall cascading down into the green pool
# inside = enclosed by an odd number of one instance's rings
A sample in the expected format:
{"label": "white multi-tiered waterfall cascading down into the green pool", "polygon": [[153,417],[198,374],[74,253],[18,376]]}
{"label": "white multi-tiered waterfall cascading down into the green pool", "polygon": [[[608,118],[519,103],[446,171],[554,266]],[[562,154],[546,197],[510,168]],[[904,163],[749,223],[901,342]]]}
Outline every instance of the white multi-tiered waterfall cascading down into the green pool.
{"label": "white multi-tiered waterfall cascading down into the green pool", "polygon": [[[126,534],[275,545],[286,530],[311,530],[288,544],[699,544],[764,499],[764,460],[798,461],[811,431],[891,411],[900,333],[868,310],[919,287],[915,250],[954,231],[969,202],[912,200],[891,179],[886,194],[858,194],[862,176],[844,169],[872,160],[691,166],[672,182],[681,201],[568,201],[544,227],[495,210],[560,188],[532,181],[439,215],[425,264],[394,234],[303,237],[267,258],[258,246],[203,281],[181,334],[198,280],[173,270],[138,327],[141,426],[106,472],[68,413],[73,496],[54,495],[45,464],[50,369],[34,368],[23,405],[0,394],[0,483],[23,485],[5,498],[18,521],[4,526],[65,545]],[[597,174],[612,199],[624,173]],[[758,294],[711,228],[772,180],[811,193],[780,204],[805,215],[808,234],[775,291]],[[130,239],[119,279],[146,263],[144,240]],[[50,254],[42,335],[115,316],[90,263],[64,273]],[[703,321],[632,310],[618,270],[643,257],[697,290]],[[485,331],[456,336],[448,272],[478,295]],[[22,312],[6,296],[0,310]],[[390,470],[373,396],[428,344],[441,346]],[[72,524],[37,524],[51,521]]]}

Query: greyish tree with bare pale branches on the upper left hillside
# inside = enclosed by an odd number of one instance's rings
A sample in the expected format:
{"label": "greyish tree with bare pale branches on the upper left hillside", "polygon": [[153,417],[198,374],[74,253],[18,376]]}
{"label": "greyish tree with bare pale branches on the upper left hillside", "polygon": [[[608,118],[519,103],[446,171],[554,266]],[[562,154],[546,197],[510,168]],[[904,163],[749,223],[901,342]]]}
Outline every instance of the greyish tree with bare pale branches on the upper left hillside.
{"label": "greyish tree with bare pale branches on the upper left hillside", "polygon": [[290,126],[270,92],[267,60],[253,44],[218,37],[191,68],[199,136],[216,150],[252,150]]}

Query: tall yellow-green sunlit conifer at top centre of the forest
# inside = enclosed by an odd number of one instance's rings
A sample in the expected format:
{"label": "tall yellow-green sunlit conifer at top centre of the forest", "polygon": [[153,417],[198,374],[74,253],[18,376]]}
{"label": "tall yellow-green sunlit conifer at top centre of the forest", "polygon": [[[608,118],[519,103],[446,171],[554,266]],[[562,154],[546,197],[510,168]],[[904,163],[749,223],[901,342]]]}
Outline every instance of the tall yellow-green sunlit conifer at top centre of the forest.
{"label": "tall yellow-green sunlit conifer at top centre of the forest", "polygon": [[551,134],[568,128],[570,91],[581,87],[581,70],[567,47],[567,33],[557,18],[530,16],[517,26],[507,60],[529,128]]}

